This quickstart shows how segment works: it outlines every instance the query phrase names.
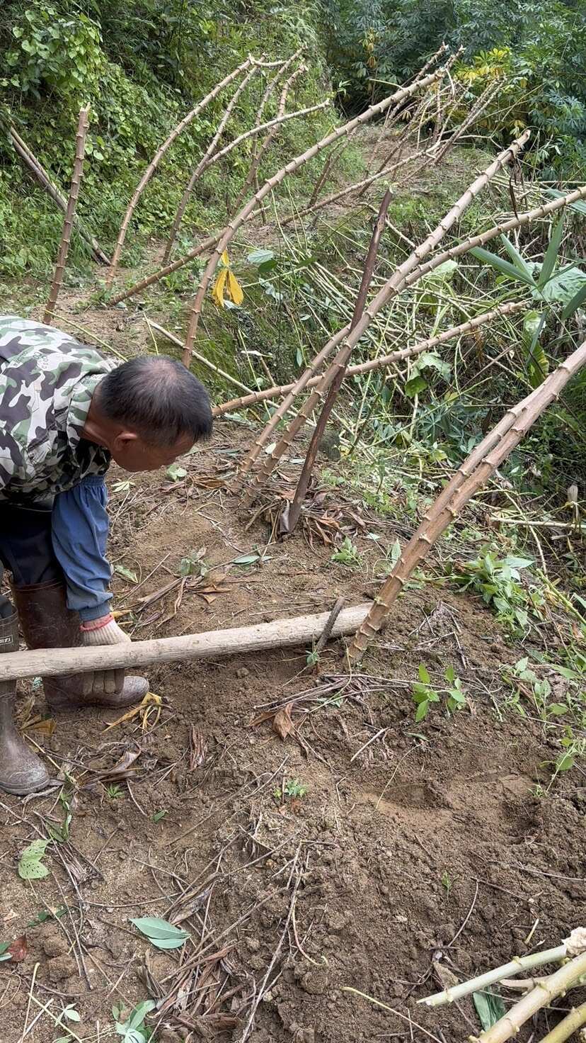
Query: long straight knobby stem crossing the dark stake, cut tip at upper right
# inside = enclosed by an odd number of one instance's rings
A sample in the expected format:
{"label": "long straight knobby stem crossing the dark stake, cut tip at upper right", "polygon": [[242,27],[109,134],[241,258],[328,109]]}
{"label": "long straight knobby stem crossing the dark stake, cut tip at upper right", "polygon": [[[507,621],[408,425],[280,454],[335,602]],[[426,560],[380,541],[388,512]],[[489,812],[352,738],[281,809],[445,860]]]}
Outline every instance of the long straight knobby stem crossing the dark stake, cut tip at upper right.
{"label": "long straight knobby stem crossing the dark stake, cut tip at upper right", "polygon": [[[472,184],[466,189],[466,191],[463,193],[460,199],[458,199],[454,203],[454,205],[449,209],[447,214],[442,218],[438,226],[434,228],[434,231],[430,233],[426,239],[419,246],[416,247],[416,249],[407,258],[406,261],[402,262],[401,265],[398,266],[398,268],[396,268],[396,270],[388,280],[388,282],[385,284],[383,289],[379,291],[374,299],[365,309],[361,320],[357,323],[351,333],[349,332],[348,326],[346,326],[343,331],[339,332],[337,337],[341,341],[341,346],[334,359],[334,362],[331,363],[329,368],[323,374],[320,384],[318,384],[317,387],[314,388],[313,391],[310,393],[310,395],[299,409],[297,415],[290,422],[289,427],[284,432],[279,440],[273,446],[271,452],[267,454],[262,468],[252,476],[248,491],[244,498],[245,505],[249,505],[251,503],[259,487],[268,480],[277,461],[280,459],[283,454],[291,444],[297,432],[300,431],[300,429],[307,422],[311,413],[318,405],[319,401],[323,398],[323,395],[326,393],[329,384],[334,379],[337,367],[341,364],[342,365],[345,364],[347,358],[349,358],[349,355],[351,354],[353,346],[358,343],[365,330],[368,329],[371,320],[381,310],[383,305],[386,304],[391,297],[395,296],[400,291],[409,272],[413,271],[414,269],[420,268],[421,259],[424,258],[428,253],[430,253],[431,250],[435,248],[435,246],[437,246],[438,242],[440,242],[445,233],[448,232],[449,228],[453,227],[453,225],[456,223],[456,221],[460,219],[463,212],[475,199],[479,192],[481,192],[481,190],[485,188],[485,186],[490,181],[491,177],[493,177],[494,174],[498,170],[500,170],[506,163],[509,163],[517,155],[519,150],[526,144],[528,138],[529,138],[529,131],[526,131],[508,148],[504,149],[504,151],[500,152],[493,160],[493,162],[486,168],[486,170],[472,181]],[[333,338],[333,340],[335,338]],[[323,355],[324,353],[325,354],[329,353],[331,343],[332,342],[329,342],[324,346],[324,348],[322,348],[320,355]],[[287,402],[287,398],[285,399],[285,402]],[[274,430],[275,423],[278,421],[278,418],[275,421],[277,413],[278,410],[276,410],[275,413],[273,413],[271,419],[266,425],[264,431],[261,432],[253,446],[254,452],[257,451],[258,446],[260,445],[262,446],[264,444],[267,437],[267,432],[272,433],[272,430]],[[253,451],[249,452],[246,461],[249,460]]]}

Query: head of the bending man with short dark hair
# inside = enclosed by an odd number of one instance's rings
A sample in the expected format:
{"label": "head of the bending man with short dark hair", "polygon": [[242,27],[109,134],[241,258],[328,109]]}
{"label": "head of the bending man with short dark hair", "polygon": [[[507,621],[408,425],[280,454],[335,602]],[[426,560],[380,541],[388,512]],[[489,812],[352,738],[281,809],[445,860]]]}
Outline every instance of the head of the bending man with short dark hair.
{"label": "head of the bending man with short dark hair", "polygon": [[175,359],[124,362],[98,384],[83,437],[104,445],[125,470],[155,470],[212,433],[202,384]]}

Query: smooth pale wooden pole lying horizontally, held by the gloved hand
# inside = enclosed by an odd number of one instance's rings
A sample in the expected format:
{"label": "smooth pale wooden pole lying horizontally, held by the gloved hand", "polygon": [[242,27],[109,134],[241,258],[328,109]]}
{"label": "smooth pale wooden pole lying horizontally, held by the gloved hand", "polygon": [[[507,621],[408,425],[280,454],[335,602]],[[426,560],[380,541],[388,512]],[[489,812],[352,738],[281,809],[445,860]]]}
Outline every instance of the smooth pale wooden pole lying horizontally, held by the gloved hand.
{"label": "smooth pale wooden pole lying horizontally, held by the gloved hand", "polygon": [[[370,602],[344,608],[334,624],[332,636],[352,633],[369,608]],[[180,637],[157,637],[148,641],[9,652],[0,656],[0,682],[22,677],[56,677],[59,674],[88,673],[93,670],[126,670],[150,663],[180,662],[306,646],[319,639],[329,616],[329,612],[319,612],[315,615],[260,623],[251,627],[210,630]]]}

